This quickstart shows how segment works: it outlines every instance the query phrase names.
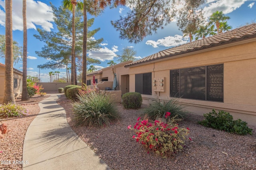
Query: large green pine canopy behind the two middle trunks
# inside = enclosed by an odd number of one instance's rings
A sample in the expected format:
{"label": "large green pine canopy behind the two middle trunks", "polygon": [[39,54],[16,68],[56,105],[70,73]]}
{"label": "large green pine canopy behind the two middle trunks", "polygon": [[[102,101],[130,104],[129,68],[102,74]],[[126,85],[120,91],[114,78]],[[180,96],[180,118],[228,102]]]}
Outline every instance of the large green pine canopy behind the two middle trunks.
{"label": "large green pine canopy behind the two middle trunks", "polygon": [[[72,46],[72,12],[64,9],[62,7],[56,8],[51,4],[54,14],[54,21],[57,25],[58,32],[48,32],[42,29],[37,29],[39,35],[34,35],[40,41],[46,43],[42,48],[42,51],[36,51],[36,54],[45,59],[51,59],[46,64],[40,66],[40,68],[63,68],[67,63],[70,63],[71,57],[71,46]],[[78,67],[81,67],[82,60],[82,44],[83,44],[83,21],[82,21],[82,12],[76,12],[76,34],[75,34],[75,54],[76,54],[76,63]],[[94,18],[88,20],[88,26],[92,26],[94,23]],[[88,42],[87,50],[96,50],[99,49],[99,44],[103,39],[92,39],[92,37],[100,30],[94,29],[88,31]],[[87,64],[97,63],[100,61],[96,59],[88,58]]]}

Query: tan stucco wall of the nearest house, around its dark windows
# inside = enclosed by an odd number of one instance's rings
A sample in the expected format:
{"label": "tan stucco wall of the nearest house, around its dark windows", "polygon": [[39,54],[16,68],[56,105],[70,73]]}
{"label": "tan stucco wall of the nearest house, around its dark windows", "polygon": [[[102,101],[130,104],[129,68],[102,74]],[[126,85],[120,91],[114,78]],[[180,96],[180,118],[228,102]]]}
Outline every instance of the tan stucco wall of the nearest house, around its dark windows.
{"label": "tan stucco wall of the nearest house, around its dark windows", "polygon": [[[253,25],[253,29],[256,30],[256,24]],[[130,92],[136,91],[136,74],[151,72],[152,80],[164,77],[164,92],[154,92],[152,82],[152,95],[142,94],[143,103],[149,104],[158,97],[160,100],[170,100],[170,70],[223,64],[223,102],[180,98],[179,103],[187,106],[186,109],[192,113],[203,115],[215,108],[230,112],[234,119],[240,118],[251,125],[256,125],[256,36],[246,38],[173,57],[162,55],[162,59],[158,53],[154,56],[160,59],[155,57],[151,60],[154,57],[152,55],[153,57],[148,57],[148,61],[142,59],[137,63],[128,64],[125,67],[130,68]],[[228,40],[231,38],[228,37]],[[187,44],[189,45],[190,43]]]}

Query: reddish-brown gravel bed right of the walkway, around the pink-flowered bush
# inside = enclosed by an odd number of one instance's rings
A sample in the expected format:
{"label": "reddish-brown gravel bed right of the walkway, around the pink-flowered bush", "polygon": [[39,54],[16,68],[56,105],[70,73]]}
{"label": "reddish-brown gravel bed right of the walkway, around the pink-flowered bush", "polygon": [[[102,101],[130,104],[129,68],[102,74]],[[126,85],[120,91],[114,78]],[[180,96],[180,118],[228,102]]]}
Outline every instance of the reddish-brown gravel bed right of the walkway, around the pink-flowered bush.
{"label": "reddish-brown gravel bed right of the walkway, around the pink-flowered bush", "polygon": [[180,127],[190,128],[192,141],[186,142],[182,152],[164,159],[147,153],[132,138],[135,133],[127,127],[133,127],[141,116],[139,110],[118,104],[121,118],[110,127],[76,127],[69,100],[62,95],[57,102],[66,109],[76,134],[113,170],[256,170],[256,127],[250,126],[253,135],[240,136],[198,125],[196,122],[204,117],[190,114]]}

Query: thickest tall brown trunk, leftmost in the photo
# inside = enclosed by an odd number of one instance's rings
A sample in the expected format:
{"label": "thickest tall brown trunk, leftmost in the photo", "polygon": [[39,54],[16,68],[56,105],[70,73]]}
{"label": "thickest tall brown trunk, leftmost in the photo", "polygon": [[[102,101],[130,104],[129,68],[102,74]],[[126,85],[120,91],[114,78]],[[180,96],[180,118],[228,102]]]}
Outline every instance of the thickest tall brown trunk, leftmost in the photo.
{"label": "thickest tall brown trunk, leftmost in the photo", "polygon": [[12,0],[5,1],[4,104],[15,103],[13,88]]}

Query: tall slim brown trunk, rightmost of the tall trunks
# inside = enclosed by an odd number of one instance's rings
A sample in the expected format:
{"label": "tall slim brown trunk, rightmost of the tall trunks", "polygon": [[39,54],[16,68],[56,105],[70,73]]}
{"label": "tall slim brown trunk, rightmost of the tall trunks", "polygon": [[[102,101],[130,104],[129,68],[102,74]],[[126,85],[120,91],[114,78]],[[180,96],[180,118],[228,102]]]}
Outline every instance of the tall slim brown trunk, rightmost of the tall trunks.
{"label": "tall slim brown trunk, rightmost of the tall trunks", "polygon": [[84,33],[83,33],[83,63],[82,63],[82,86],[86,84],[86,53],[87,52],[87,4],[84,0]]}

